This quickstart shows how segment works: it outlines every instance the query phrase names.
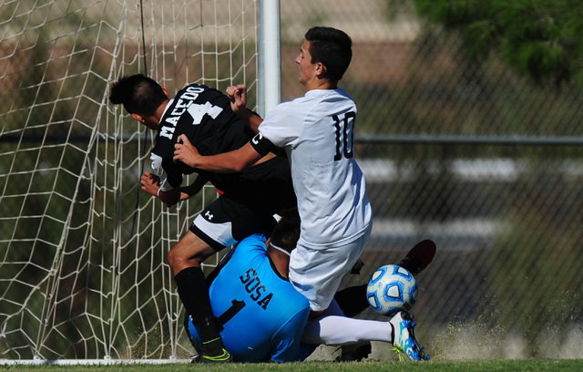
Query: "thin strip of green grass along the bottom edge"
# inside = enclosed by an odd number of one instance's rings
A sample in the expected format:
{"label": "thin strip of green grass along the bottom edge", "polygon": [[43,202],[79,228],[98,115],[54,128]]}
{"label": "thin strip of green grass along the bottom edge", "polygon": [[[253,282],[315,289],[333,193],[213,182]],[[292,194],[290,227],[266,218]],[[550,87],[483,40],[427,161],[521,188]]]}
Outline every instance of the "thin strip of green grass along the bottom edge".
{"label": "thin strip of green grass along the bottom edge", "polygon": [[476,372],[476,371],[580,371],[583,370],[583,359],[513,359],[513,360],[466,360],[466,361],[430,361],[414,363],[409,361],[384,362],[303,362],[287,364],[230,364],[230,365],[107,365],[107,366],[27,366],[27,365],[0,365],[0,371],[38,372],[180,372],[180,371],[208,371],[216,372],[370,372],[374,370],[391,372],[431,371],[431,372]]}

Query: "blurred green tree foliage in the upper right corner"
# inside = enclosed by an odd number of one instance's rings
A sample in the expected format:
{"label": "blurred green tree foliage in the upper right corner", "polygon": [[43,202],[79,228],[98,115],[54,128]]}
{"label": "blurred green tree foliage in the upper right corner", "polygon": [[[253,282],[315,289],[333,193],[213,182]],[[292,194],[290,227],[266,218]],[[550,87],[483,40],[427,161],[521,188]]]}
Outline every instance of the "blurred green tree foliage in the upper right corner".
{"label": "blurred green tree foliage in the upper right corner", "polygon": [[581,0],[414,0],[420,16],[459,32],[467,56],[496,51],[537,82],[583,85]]}

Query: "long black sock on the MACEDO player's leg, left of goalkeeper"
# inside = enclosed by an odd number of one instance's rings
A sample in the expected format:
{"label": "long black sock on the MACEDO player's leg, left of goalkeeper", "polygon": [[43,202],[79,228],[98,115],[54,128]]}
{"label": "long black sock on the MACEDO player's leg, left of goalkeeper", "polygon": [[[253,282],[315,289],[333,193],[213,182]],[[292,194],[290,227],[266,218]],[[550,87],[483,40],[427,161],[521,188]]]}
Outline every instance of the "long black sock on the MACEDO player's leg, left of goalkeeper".
{"label": "long black sock on the MACEDO player's leg, left of goalkeeper", "polygon": [[182,305],[192,317],[205,354],[222,354],[223,344],[210,307],[209,286],[200,267],[188,267],[174,277]]}

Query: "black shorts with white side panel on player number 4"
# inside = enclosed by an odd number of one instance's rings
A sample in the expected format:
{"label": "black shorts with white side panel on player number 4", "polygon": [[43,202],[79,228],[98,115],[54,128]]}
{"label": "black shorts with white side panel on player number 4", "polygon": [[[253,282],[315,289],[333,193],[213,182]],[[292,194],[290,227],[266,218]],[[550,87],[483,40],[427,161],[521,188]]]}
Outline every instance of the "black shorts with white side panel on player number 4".
{"label": "black shorts with white side panel on player number 4", "polygon": [[200,212],[189,230],[214,250],[220,251],[253,233],[269,234],[276,223],[269,212],[220,196]]}

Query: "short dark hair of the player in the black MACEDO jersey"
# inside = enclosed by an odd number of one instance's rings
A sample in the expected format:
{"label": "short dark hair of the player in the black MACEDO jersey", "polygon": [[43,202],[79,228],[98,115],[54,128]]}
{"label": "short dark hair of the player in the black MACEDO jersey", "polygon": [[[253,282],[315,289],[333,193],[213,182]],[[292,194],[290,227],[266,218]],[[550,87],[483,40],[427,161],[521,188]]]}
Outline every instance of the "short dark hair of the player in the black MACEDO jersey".
{"label": "short dark hair of the player in the black MACEDO jersey", "polygon": [[153,116],[166,99],[158,82],[141,74],[120,78],[109,94],[109,102],[123,104],[130,114],[142,116]]}

